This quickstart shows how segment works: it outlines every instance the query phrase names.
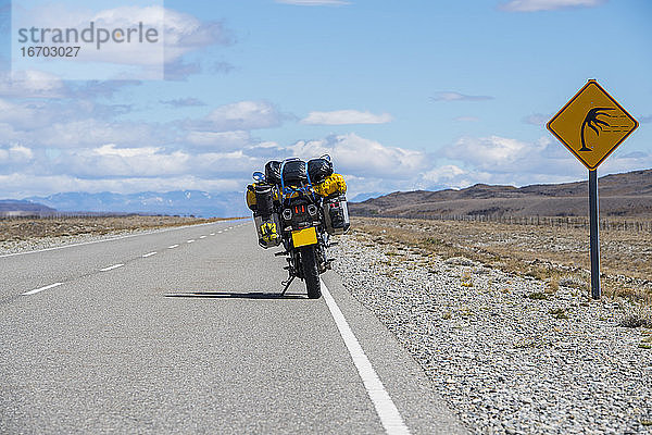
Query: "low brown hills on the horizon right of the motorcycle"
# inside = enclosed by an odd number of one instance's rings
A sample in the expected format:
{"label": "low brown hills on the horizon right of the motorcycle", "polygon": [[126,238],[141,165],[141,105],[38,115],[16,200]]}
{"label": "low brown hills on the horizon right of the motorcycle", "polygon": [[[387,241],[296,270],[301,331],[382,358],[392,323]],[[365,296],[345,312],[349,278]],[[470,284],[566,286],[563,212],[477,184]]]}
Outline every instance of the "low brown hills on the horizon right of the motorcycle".
{"label": "low brown hills on the horizon right of the motorcycle", "polygon": [[[652,170],[603,176],[598,189],[601,215],[652,217]],[[476,184],[460,190],[397,191],[351,203],[349,210],[362,216],[586,216],[588,183],[525,187]]]}

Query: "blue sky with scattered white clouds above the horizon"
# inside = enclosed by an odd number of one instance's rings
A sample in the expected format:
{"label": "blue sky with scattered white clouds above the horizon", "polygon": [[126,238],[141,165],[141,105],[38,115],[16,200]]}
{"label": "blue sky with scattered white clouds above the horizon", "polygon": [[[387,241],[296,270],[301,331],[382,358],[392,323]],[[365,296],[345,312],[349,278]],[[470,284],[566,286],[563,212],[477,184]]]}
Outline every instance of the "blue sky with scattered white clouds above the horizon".
{"label": "blue sky with scattered white clouds above the horizon", "polygon": [[10,75],[0,0],[0,197],[235,191],[324,152],[350,197],[582,179],[544,123],[589,78],[641,123],[599,174],[652,167],[648,0],[164,5],[165,80],[72,82]]}

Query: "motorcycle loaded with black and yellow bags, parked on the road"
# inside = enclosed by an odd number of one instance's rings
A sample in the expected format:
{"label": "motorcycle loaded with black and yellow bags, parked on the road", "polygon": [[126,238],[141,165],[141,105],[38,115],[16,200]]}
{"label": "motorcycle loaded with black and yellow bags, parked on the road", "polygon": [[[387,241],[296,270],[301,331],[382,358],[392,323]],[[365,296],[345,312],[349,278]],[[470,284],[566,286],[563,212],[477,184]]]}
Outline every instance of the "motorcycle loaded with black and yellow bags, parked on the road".
{"label": "motorcycle loaded with black and yellow bags, parked on the road", "polygon": [[259,245],[265,249],[283,245],[275,256],[287,256],[289,277],[305,282],[308,297],[322,297],[319,274],[334,259],[326,250],[330,236],[349,231],[347,185],[334,173],[330,157],[304,162],[300,159],[271,161],[265,173],[254,172],[256,182],[247,187],[247,204],[253,211]]}

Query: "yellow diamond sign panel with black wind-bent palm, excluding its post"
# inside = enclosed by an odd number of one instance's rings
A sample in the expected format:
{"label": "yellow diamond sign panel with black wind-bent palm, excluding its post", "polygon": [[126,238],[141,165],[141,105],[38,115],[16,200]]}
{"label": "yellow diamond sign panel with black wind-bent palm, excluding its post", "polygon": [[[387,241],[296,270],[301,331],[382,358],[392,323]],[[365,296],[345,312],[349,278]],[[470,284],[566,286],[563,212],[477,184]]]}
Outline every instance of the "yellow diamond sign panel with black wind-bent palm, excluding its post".
{"label": "yellow diamond sign panel with black wind-bent palm, excluding its post", "polygon": [[638,127],[595,80],[589,80],[546,125],[590,171]]}

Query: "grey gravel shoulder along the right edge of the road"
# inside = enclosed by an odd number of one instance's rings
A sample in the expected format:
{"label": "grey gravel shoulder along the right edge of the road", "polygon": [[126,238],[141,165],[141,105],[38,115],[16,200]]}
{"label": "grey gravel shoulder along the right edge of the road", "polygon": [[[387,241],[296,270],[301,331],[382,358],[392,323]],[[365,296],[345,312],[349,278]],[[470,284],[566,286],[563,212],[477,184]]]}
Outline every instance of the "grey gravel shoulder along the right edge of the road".
{"label": "grey gravel shoulder along the right edge of the road", "polygon": [[[477,434],[652,433],[652,331],[625,300],[342,236],[344,286]],[[568,284],[573,284],[568,281]]]}

